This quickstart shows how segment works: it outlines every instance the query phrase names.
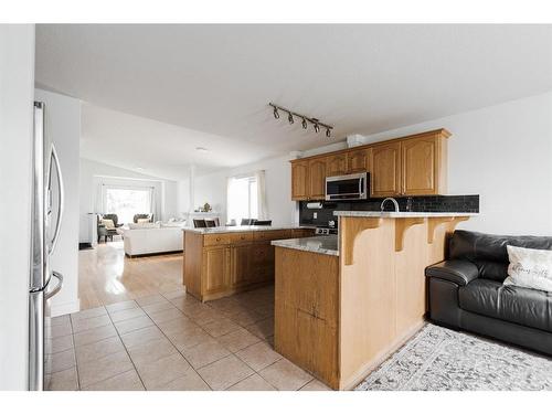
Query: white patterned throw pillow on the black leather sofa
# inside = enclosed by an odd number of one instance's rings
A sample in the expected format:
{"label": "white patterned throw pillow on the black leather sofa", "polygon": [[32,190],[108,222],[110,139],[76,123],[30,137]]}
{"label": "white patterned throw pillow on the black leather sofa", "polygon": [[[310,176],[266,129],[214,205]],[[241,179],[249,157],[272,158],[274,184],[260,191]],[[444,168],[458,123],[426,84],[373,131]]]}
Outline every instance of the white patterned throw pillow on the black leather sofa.
{"label": "white patterned throw pillow on the black leather sofa", "polygon": [[552,291],[552,251],[506,246],[510,265],[505,285]]}

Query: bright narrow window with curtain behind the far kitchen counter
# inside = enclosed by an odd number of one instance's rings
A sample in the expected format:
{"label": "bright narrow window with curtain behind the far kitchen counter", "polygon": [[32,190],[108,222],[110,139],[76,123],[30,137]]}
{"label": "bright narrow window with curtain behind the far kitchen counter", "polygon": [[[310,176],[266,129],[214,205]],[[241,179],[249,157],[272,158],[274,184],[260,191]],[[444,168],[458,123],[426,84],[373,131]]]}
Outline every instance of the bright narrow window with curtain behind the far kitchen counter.
{"label": "bright narrow window with curtain behind the far kitchen counter", "polygon": [[227,188],[227,220],[258,219],[258,192],[255,176],[231,177]]}

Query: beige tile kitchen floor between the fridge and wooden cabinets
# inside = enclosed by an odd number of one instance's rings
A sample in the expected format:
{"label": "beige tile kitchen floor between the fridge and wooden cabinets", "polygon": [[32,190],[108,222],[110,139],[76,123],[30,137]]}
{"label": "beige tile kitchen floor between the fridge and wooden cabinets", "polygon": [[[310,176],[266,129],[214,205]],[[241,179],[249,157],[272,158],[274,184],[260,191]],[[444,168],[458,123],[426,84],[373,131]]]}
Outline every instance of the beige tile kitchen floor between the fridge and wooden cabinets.
{"label": "beige tile kitchen floor between the fridge and wooden cabinets", "polygon": [[274,287],[181,289],[53,318],[49,390],[328,390],[273,349]]}

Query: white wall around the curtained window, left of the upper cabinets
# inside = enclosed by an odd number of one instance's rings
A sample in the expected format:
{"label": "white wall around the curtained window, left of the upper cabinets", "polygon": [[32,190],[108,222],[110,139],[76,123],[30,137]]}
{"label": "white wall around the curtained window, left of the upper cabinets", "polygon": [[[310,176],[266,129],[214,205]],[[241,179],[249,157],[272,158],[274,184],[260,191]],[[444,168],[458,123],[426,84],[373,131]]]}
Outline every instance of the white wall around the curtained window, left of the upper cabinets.
{"label": "white wall around the curtained window, left of the upper cabinets", "polygon": [[[273,221],[273,225],[293,224],[297,219],[295,216],[296,203],[291,201],[291,169],[289,167],[289,157],[279,157],[263,160],[259,162],[241,166],[197,177],[194,182],[193,208],[209,202],[213,211],[221,213],[222,221],[226,220],[226,179],[232,176],[265,170],[266,204],[268,208],[267,216]],[[180,211],[183,210],[189,197],[181,194]]]}

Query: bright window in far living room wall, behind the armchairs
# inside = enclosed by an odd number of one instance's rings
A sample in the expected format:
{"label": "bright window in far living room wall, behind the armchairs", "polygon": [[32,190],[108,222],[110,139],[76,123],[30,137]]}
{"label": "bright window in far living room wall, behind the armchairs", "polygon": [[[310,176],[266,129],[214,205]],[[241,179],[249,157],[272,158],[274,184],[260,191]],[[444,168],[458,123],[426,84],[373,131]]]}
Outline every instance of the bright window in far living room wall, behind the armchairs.
{"label": "bright window in far living room wall, behind the armchairs", "polygon": [[115,213],[119,223],[132,223],[135,214],[151,213],[150,188],[104,187],[104,213]]}

